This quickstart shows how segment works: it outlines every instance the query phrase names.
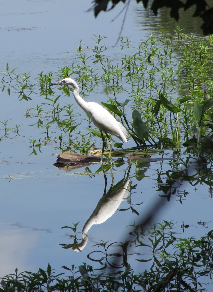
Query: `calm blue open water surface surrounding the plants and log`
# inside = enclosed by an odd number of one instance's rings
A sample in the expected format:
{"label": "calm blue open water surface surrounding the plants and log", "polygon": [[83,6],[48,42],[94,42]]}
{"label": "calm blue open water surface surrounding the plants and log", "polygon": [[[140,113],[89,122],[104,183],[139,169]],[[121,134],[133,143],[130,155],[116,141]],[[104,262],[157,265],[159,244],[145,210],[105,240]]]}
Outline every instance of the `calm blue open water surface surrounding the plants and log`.
{"label": "calm blue open water surface surrounding the plants and log", "polygon": [[[78,4],[74,3],[78,2]],[[93,14],[87,13],[90,6],[88,1],[27,1],[21,0],[10,5],[6,1],[1,3],[0,36],[1,36],[1,60],[0,70],[8,62],[10,69],[18,67],[18,73],[30,72],[37,77],[41,71],[57,71],[57,68],[70,65],[75,61],[73,53],[79,41],[83,39],[86,46],[92,46],[94,35],[106,36],[105,45],[109,47],[112,56],[121,55],[115,47],[122,25],[122,16],[114,22],[111,20],[117,15],[122,5],[111,13],[101,13],[95,20]],[[138,20],[137,15],[144,13],[144,17]],[[166,16],[165,16],[166,17]],[[122,32],[128,36],[133,44],[138,44],[153,31],[160,31],[162,23],[168,33],[173,24],[167,23],[163,18],[155,18],[147,15],[142,8],[131,4],[127,20]],[[175,27],[175,26],[174,26]],[[192,27],[188,27],[191,32]],[[200,32],[196,30],[196,32]],[[134,47],[134,46],[133,46]],[[132,48],[133,50],[133,48]],[[123,54],[123,53],[122,53]],[[3,77],[5,74],[1,74]],[[30,155],[32,148],[29,139],[39,139],[44,136],[44,128],[38,129],[31,126],[36,123],[37,117],[26,119],[25,112],[29,108],[42,102],[43,97],[32,94],[32,101],[19,101],[19,93],[14,89],[11,95],[1,93],[0,121],[10,120],[9,127],[13,124],[22,124],[21,136],[15,137],[15,133],[9,134],[9,138],[0,141],[0,185],[1,185],[1,219],[0,219],[0,276],[11,273],[15,267],[22,270],[37,271],[39,267],[46,269],[50,263],[52,268],[59,270],[61,265],[70,266],[73,263],[78,266],[86,261],[86,255],[92,251],[92,246],[98,241],[119,241],[127,232],[125,227],[138,216],[128,211],[115,211],[115,213],[102,224],[91,226],[88,230],[88,242],[77,253],[71,249],[63,249],[59,244],[69,244],[70,239],[67,229],[63,226],[77,223],[79,237],[84,224],[95,210],[98,201],[104,193],[103,174],[94,176],[81,175],[83,169],[65,172],[59,170],[53,164],[56,156],[60,153],[48,144],[42,147],[42,153],[37,149],[37,155]],[[105,96],[100,92],[92,93],[88,100],[104,101]],[[67,102],[67,97],[61,97],[60,102]],[[72,101],[70,101],[72,103]],[[79,108],[76,109],[79,111]],[[84,113],[81,112],[83,115]],[[81,124],[84,129],[84,123]],[[3,125],[1,125],[1,131]],[[60,133],[52,133],[57,136]],[[101,147],[101,141],[98,143]],[[130,146],[133,146],[130,142]],[[185,155],[185,154],[184,154]],[[184,157],[183,155],[183,157]],[[161,155],[155,155],[161,158]],[[165,153],[164,158],[172,159],[172,151]],[[173,158],[178,161],[178,157]],[[170,160],[169,160],[170,161]],[[90,166],[90,171],[95,173],[99,165]],[[124,178],[124,171],[128,165],[112,171],[116,185]],[[133,177],[132,185],[137,184],[136,192],[131,195],[133,204],[139,214],[147,212],[156,199],[157,169],[169,170],[168,161],[153,161],[145,164],[145,176],[136,180],[135,166],[131,167],[129,177]],[[10,180],[9,175],[12,176]],[[107,187],[110,189],[111,173],[107,173]],[[212,229],[212,204],[209,197],[208,187],[197,185],[191,187],[189,183],[183,184],[180,189],[189,192],[180,204],[177,197],[164,204],[162,212],[158,213],[155,220],[161,222],[167,220],[177,223],[180,227],[182,222],[190,225],[185,230],[185,237],[196,238],[205,235]],[[127,200],[120,199],[120,209],[129,207]],[[202,206],[202,208],[201,208]],[[107,216],[106,216],[107,217]],[[102,220],[103,221],[103,220]],[[199,221],[209,222],[205,226],[198,224]],[[98,220],[93,221],[99,223]],[[90,222],[91,224],[91,222]],[[178,232],[182,232],[181,228]],[[109,236],[110,234],[110,236]],[[183,236],[183,235],[182,235]],[[72,241],[72,239],[71,239]],[[87,261],[88,264],[89,263]],[[134,263],[136,268],[143,269],[145,266]]]}

